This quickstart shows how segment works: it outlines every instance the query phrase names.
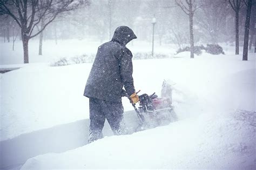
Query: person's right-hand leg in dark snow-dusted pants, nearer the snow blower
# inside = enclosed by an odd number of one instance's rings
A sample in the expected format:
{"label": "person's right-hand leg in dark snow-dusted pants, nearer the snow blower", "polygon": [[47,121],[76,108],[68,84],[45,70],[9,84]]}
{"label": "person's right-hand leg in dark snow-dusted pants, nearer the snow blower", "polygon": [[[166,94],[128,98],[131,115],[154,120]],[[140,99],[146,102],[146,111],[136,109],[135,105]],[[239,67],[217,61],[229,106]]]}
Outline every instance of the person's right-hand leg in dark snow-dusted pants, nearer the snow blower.
{"label": "person's right-hand leg in dark snow-dusted pants, nearer the snow blower", "polygon": [[115,135],[126,134],[123,120],[124,107],[122,102],[112,102],[102,100],[102,111]]}

